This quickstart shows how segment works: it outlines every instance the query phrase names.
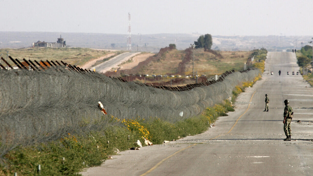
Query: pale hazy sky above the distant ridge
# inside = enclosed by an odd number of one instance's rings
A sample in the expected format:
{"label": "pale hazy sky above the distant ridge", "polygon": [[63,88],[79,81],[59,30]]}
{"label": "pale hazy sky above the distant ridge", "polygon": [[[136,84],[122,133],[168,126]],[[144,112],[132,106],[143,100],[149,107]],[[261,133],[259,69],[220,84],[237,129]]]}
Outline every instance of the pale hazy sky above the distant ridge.
{"label": "pale hazy sky above the distant ridge", "polygon": [[0,0],[0,31],[313,35],[313,0]]}

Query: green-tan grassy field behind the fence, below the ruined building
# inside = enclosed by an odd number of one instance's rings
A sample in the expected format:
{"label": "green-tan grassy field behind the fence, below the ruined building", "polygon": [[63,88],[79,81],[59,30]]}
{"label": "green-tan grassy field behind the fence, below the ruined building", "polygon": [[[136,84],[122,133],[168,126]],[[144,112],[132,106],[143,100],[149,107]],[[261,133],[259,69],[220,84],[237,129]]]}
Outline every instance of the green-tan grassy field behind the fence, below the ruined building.
{"label": "green-tan grassy field behind the fence, below the ruined building", "polygon": [[[100,49],[89,49],[89,48],[49,48],[49,47],[34,47],[34,48],[23,48],[23,49],[0,49],[2,57],[6,59],[6,55],[10,54],[13,59],[18,59],[23,62],[23,58],[26,60],[57,60],[71,64],[82,66],[86,62],[97,59],[111,53],[121,53],[121,51],[109,51]],[[8,59],[9,64],[15,66],[13,62]]]}

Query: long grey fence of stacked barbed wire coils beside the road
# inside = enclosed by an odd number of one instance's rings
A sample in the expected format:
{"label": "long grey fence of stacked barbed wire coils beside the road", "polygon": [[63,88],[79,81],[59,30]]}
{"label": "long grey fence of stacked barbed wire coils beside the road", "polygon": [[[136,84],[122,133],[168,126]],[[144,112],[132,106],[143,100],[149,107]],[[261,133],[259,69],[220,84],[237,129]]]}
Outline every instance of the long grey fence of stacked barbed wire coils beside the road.
{"label": "long grey fence of stacked barbed wire coils beside the road", "polygon": [[234,72],[208,86],[168,91],[65,67],[0,69],[0,157],[18,145],[114,125],[111,117],[98,109],[98,101],[108,114],[118,118],[158,117],[173,123],[222,102],[236,85],[258,74],[258,69]]}

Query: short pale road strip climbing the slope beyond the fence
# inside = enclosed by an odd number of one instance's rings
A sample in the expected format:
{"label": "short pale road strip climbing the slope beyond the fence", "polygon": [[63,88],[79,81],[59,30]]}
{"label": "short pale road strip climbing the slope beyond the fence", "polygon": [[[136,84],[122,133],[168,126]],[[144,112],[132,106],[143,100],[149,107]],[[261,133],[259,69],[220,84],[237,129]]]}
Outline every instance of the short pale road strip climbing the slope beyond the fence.
{"label": "short pale road strip climbing the slope beyond the fence", "polygon": [[127,52],[127,53],[119,54],[119,55],[115,56],[114,58],[111,58],[110,60],[102,62],[99,65],[96,65],[95,69],[98,72],[105,73],[106,71],[109,71],[111,68],[118,66],[119,64],[130,59],[132,56],[134,56],[136,54],[138,54],[138,53]]}

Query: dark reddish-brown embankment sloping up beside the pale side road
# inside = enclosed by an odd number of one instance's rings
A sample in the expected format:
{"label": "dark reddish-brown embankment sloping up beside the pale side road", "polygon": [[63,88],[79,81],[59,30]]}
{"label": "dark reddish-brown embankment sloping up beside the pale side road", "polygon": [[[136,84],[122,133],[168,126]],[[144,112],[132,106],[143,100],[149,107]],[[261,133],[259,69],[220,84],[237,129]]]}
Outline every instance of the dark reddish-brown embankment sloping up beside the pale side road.
{"label": "dark reddish-brown embankment sloping up beside the pale side road", "polygon": [[174,47],[161,48],[158,54],[150,56],[148,59],[146,59],[144,61],[141,61],[136,67],[134,67],[132,69],[117,70],[116,72],[114,72],[114,71],[107,71],[105,73],[105,75],[106,76],[117,77],[117,76],[120,76],[121,74],[137,74],[142,67],[148,65],[151,61],[160,60],[161,57],[162,57],[162,54],[164,54],[165,52],[170,51],[172,49],[174,49]]}

